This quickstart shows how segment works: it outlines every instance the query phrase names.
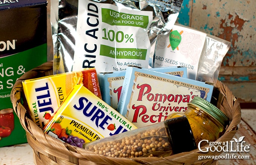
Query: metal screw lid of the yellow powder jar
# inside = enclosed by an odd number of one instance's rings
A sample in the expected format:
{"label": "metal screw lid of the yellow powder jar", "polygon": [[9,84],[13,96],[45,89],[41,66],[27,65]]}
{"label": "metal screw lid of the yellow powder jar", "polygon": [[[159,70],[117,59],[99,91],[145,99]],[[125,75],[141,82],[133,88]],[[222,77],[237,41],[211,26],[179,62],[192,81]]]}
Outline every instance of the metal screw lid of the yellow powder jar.
{"label": "metal screw lid of the yellow powder jar", "polygon": [[226,125],[229,124],[229,118],[221,110],[219,110],[219,108],[215,107],[215,105],[211,104],[205,99],[196,96],[187,105],[189,104],[192,104],[211,115],[213,118],[219,121],[222,126],[226,127]]}

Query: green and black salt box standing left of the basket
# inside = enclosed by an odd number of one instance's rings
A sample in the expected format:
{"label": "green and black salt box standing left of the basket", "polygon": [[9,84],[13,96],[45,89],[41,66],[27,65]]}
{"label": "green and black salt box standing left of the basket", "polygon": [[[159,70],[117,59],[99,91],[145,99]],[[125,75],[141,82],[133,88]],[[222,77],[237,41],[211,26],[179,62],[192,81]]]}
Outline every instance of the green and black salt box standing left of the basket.
{"label": "green and black salt box standing left of the basket", "polygon": [[47,1],[0,0],[0,147],[27,142],[12,109],[15,81],[47,61]]}

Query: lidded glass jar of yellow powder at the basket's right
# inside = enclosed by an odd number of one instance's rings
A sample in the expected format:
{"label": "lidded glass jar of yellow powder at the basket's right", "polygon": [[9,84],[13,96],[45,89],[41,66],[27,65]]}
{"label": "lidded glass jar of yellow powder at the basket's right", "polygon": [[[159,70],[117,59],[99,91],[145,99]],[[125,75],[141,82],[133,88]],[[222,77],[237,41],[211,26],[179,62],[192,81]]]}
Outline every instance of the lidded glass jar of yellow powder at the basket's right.
{"label": "lidded glass jar of yellow powder at the basket's right", "polygon": [[[166,119],[181,116],[189,120],[197,146],[201,140],[216,141],[229,124],[229,118],[221,110],[200,97],[194,97],[184,113],[173,113]],[[205,144],[206,141],[202,141],[200,146]]]}

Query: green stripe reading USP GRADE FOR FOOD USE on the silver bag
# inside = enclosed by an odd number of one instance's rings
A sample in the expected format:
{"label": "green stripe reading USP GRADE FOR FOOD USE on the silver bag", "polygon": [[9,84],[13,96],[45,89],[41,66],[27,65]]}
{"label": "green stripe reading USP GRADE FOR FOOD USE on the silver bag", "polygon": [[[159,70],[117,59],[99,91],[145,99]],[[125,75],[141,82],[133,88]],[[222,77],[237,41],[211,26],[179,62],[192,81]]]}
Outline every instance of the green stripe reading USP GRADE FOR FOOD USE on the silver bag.
{"label": "green stripe reading USP GRADE FOR FOOD USE on the silver bag", "polygon": [[148,16],[134,15],[128,13],[117,12],[111,9],[101,9],[102,22],[110,25],[118,26],[134,26],[146,28],[148,26]]}

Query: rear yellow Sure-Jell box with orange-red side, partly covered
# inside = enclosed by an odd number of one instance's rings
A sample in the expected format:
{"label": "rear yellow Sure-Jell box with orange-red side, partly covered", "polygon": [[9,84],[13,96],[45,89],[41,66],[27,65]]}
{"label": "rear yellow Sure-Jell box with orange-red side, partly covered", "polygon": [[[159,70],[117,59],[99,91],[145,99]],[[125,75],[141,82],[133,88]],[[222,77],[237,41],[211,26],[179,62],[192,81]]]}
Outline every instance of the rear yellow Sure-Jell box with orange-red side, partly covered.
{"label": "rear yellow Sure-Jell box with orange-red side, partly covered", "polygon": [[76,84],[82,84],[101,98],[95,68],[23,81],[24,94],[32,120],[43,129]]}

